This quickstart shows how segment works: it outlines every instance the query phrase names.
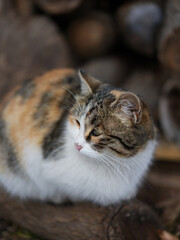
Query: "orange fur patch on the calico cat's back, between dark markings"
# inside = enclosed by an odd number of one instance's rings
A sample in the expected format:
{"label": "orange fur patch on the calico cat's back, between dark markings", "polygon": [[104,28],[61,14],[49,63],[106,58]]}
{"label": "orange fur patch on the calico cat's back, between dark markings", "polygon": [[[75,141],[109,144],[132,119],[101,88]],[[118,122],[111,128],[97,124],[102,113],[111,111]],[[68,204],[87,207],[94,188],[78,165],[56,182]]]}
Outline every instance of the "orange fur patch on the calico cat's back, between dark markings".
{"label": "orange fur patch on the calico cat's back, between dark markings", "polygon": [[[63,115],[65,110],[61,109],[59,104],[64,101],[67,94],[66,89],[70,88],[70,85],[62,83],[62,87],[57,88],[53,86],[53,83],[60,84],[66,77],[73,74],[75,74],[75,71],[71,69],[53,70],[35,78],[33,80],[33,83],[35,83],[33,97],[27,99],[25,103],[21,95],[14,95],[14,97],[12,97],[13,93],[9,95],[11,100],[3,110],[2,117],[6,122],[8,136],[14,143],[19,158],[22,158],[22,144],[25,144],[27,139],[33,144],[42,144],[53,124]],[[14,93],[16,90],[17,88]],[[45,116],[44,118],[33,119],[38,111],[41,98],[46,92],[52,92],[53,98],[44,107]],[[44,127],[41,121],[43,121]]]}

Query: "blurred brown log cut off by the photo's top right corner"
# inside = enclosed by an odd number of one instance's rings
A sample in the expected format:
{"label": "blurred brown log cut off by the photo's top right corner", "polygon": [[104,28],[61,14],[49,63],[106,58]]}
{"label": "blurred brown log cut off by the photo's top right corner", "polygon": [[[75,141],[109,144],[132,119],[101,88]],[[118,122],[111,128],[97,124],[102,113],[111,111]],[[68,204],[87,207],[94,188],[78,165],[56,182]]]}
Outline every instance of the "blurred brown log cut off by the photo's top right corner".
{"label": "blurred brown log cut off by the photo's top right corner", "polygon": [[168,0],[165,23],[159,38],[159,59],[165,67],[180,71],[180,4]]}

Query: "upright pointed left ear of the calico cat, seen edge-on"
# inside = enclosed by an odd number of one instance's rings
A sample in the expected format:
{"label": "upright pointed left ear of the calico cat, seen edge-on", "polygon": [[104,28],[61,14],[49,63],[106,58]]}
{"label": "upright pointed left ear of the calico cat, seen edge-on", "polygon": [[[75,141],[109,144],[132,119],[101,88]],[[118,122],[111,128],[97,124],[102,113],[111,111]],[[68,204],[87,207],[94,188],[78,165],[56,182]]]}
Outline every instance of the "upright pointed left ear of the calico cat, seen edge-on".
{"label": "upright pointed left ear of the calico cat, seen edge-on", "polygon": [[92,94],[100,85],[101,82],[82,70],[78,70],[78,75],[81,81],[81,94],[89,95]]}

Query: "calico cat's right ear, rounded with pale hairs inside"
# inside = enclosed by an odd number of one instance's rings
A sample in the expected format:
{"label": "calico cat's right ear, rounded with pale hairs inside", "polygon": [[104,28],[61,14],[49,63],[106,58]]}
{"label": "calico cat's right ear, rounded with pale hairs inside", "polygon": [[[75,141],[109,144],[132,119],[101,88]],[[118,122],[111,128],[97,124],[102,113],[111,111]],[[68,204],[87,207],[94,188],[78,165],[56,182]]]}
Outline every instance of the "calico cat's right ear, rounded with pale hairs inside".
{"label": "calico cat's right ear, rounded with pale hairs inside", "polygon": [[[114,91],[116,92],[116,91]],[[122,118],[128,118],[133,123],[139,123],[142,117],[141,101],[134,93],[119,92],[116,94],[116,100],[111,104],[115,112]]]}

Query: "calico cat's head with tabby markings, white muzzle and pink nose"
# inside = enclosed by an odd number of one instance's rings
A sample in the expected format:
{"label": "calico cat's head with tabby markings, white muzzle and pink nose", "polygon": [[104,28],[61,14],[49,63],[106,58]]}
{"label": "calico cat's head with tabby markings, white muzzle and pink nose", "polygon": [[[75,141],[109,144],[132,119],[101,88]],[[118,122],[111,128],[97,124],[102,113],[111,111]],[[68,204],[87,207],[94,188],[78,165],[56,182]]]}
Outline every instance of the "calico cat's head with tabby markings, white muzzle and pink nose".
{"label": "calico cat's head with tabby markings, white muzzle and pink nose", "polygon": [[81,154],[131,157],[154,140],[154,126],[145,103],[79,71],[81,93],[69,114],[70,134]]}

